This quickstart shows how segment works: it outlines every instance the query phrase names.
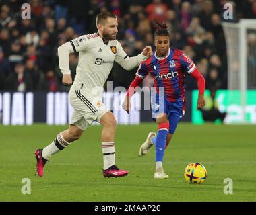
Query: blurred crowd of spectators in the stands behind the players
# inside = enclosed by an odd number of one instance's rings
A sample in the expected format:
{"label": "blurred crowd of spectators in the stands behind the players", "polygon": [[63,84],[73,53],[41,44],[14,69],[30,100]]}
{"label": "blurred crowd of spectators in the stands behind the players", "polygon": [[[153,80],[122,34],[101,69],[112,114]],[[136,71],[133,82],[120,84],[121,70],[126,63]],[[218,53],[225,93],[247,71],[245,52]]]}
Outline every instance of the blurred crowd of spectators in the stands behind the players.
{"label": "blurred crowd of spectators in the stands behind the players", "polygon": [[[21,18],[22,3],[29,3],[31,19]],[[166,22],[171,46],[193,59],[206,80],[206,88],[226,89],[227,58],[222,30],[223,5],[232,3],[234,22],[256,18],[256,0],[0,0],[0,90],[68,91],[61,84],[57,48],[82,34],[97,32],[95,19],[100,11],[118,17],[117,39],[129,56],[148,45],[154,50],[154,19]],[[75,77],[77,54],[69,64]],[[115,63],[108,81],[113,87],[129,87],[136,69],[125,71]],[[197,83],[187,75],[188,90]],[[143,85],[150,86],[147,77]]]}

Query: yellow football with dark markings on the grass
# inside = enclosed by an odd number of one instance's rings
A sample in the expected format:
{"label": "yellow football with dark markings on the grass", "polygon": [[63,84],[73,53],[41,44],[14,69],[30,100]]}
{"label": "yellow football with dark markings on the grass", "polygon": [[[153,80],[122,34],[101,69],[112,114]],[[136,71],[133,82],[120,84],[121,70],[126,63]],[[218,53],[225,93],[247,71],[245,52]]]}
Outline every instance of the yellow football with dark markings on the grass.
{"label": "yellow football with dark markings on the grass", "polygon": [[190,163],[185,168],[185,180],[189,183],[203,183],[207,177],[207,171],[201,163]]}

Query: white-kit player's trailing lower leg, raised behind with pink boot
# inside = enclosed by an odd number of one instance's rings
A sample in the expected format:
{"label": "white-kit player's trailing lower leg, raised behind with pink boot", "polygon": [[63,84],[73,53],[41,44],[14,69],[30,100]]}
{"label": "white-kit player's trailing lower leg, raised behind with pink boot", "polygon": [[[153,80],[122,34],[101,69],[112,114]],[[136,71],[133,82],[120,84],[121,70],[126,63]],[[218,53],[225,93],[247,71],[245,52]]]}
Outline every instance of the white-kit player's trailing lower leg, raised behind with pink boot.
{"label": "white-kit player's trailing lower leg, raised behind with pink boot", "polygon": [[75,125],[70,125],[69,128],[63,132],[59,132],[55,140],[42,149],[37,149],[36,155],[36,171],[40,177],[44,175],[44,165],[50,160],[51,156],[63,150],[75,140],[82,136],[83,130]]}

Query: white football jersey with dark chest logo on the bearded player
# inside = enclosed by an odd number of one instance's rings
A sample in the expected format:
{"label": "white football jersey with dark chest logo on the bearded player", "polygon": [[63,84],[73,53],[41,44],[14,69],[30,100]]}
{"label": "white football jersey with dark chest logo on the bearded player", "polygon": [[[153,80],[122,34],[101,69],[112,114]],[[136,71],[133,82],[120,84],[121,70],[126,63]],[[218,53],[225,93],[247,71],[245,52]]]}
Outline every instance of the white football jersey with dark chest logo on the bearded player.
{"label": "white football jersey with dark chest logo on the bearded player", "polygon": [[[103,89],[113,62],[116,61],[122,65],[123,61],[129,58],[117,40],[110,40],[108,44],[105,44],[97,33],[79,36],[70,42],[73,51],[79,52],[79,62],[71,89],[82,87],[86,91]],[[145,56],[140,56],[136,59],[137,63],[134,66],[139,65],[144,59]]]}

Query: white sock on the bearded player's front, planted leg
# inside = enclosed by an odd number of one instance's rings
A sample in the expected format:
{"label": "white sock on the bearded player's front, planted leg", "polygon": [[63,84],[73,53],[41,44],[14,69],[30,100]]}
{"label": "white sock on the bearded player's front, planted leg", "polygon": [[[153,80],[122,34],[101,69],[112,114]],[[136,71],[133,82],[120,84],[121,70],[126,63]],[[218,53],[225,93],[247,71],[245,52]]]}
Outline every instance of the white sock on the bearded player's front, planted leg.
{"label": "white sock on the bearded player's front, planted leg", "polygon": [[103,169],[115,165],[115,142],[102,142]]}

